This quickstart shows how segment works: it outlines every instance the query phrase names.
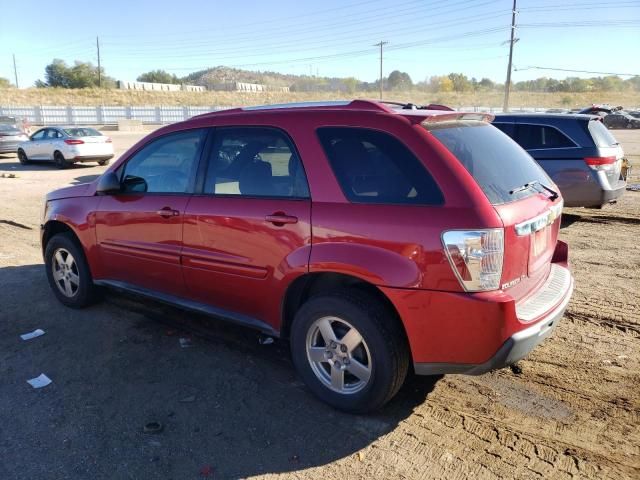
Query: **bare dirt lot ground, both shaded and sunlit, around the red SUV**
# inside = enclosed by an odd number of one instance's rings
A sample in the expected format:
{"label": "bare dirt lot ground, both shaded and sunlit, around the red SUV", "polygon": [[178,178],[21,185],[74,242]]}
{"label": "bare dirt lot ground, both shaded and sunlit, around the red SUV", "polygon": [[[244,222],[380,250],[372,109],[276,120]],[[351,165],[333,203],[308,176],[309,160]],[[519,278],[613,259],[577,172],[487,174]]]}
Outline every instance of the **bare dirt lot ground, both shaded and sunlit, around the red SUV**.
{"label": "bare dirt lot ground, both shaded and sunlit, around the red SUV", "polygon": [[[640,131],[614,134],[640,182]],[[118,153],[139,138],[112,136]],[[18,175],[0,178],[1,479],[640,478],[640,192],[565,211],[576,291],[519,368],[412,378],[351,416],[311,396],[284,342],[112,293],[60,305],[42,198],[103,170],[0,155],[0,175]],[[53,383],[32,389],[40,373]]]}

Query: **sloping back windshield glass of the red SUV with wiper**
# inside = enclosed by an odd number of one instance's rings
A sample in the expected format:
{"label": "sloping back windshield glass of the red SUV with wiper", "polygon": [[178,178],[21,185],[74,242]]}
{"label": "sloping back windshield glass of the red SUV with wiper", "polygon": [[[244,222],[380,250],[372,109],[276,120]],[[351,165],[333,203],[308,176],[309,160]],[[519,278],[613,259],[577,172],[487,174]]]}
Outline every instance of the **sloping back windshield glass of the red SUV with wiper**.
{"label": "sloping back windshield glass of the red SUV with wiper", "polygon": [[534,189],[510,193],[525,183],[552,184],[520,145],[488,123],[455,121],[423,125],[464,165],[493,205],[534,195]]}

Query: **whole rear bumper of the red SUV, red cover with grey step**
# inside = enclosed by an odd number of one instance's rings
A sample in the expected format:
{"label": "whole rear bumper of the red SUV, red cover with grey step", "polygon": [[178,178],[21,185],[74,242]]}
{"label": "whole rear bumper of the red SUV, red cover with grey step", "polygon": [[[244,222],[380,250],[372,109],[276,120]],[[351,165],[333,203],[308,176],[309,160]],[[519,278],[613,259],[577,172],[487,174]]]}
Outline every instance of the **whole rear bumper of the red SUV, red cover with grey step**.
{"label": "whole rear bumper of the red SUV, red cover with grey step", "polygon": [[516,362],[547,338],[573,293],[566,244],[545,281],[516,301],[509,290],[454,293],[379,287],[403,322],[415,371],[480,374]]}

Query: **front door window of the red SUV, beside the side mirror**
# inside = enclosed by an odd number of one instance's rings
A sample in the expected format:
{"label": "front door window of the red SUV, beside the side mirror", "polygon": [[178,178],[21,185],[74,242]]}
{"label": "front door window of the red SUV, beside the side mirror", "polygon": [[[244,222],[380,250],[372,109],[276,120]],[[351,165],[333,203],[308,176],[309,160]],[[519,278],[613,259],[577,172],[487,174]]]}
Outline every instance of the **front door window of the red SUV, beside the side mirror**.
{"label": "front door window of the red SUV, beside the side mirror", "polygon": [[204,130],[189,130],[153,140],[125,164],[123,191],[188,192],[204,137]]}

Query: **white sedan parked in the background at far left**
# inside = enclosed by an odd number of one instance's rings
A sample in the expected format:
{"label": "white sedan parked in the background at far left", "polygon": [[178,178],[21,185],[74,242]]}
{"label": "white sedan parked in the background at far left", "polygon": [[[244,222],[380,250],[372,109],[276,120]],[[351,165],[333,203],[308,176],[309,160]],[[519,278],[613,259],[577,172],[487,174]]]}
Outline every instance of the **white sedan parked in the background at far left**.
{"label": "white sedan parked in the background at far left", "polygon": [[28,142],[18,146],[18,159],[22,164],[53,161],[58,168],[66,168],[77,162],[106,165],[111,158],[111,139],[87,127],[41,128],[31,135]]}

